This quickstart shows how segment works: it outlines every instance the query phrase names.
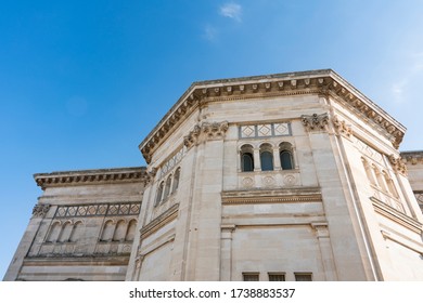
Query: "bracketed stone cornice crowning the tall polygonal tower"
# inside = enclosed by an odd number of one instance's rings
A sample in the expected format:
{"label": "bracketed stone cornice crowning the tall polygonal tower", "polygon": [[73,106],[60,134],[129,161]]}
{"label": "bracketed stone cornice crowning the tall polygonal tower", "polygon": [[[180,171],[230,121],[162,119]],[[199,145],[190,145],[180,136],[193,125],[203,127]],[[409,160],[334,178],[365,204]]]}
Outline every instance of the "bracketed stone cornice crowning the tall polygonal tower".
{"label": "bracketed stone cornice crowning the tall polygonal tower", "polygon": [[360,113],[385,131],[398,148],[406,128],[364,96],[332,69],[274,74],[194,82],[141,142],[139,148],[148,163],[154,150],[197,107],[211,102],[267,98],[285,95],[319,94],[342,101],[350,111]]}

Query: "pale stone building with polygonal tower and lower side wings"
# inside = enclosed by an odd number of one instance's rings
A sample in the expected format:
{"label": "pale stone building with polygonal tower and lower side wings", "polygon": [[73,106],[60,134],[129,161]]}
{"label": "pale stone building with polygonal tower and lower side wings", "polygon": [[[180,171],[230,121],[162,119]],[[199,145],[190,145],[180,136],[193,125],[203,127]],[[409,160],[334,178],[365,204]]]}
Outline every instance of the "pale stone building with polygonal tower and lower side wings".
{"label": "pale stone building with polygonal tower and lower side wings", "polygon": [[423,280],[405,131],[333,70],[194,82],[145,168],[35,175],[4,280]]}

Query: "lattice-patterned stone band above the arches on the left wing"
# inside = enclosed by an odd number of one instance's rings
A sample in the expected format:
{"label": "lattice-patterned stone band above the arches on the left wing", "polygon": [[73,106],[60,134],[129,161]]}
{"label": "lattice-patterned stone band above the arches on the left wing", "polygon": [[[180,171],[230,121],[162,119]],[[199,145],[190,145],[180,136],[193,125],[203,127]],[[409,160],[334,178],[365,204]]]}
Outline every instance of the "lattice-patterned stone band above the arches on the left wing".
{"label": "lattice-patterned stone band above the arches on the left wing", "polygon": [[98,215],[132,215],[139,214],[141,203],[114,203],[88,206],[61,206],[54,218],[98,216]]}

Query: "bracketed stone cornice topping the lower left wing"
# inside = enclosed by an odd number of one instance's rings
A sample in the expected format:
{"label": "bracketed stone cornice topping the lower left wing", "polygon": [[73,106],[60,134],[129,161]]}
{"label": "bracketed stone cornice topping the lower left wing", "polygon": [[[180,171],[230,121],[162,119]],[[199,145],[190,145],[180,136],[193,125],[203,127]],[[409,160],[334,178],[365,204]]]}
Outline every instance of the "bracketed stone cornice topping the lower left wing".
{"label": "bracketed stone cornice topping the lower left wing", "polygon": [[34,179],[42,189],[53,186],[145,182],[145,168],[117,168],[101,170],[36,173]]}

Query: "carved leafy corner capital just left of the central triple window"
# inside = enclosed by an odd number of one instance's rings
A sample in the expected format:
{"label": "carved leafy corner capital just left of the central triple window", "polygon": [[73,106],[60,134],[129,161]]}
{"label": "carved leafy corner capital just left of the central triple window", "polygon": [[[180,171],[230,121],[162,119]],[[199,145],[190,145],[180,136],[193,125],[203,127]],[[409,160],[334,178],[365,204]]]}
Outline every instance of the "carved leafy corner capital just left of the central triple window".
{"label": "carved leafy corner capital just left of the central triple window", "polygon": [[183,137],[183,144],[190,148],[206,140],[216,140],[225,136],[229,128],[228,121],[223,122],[203,122],[194,126],[193,130]]}

